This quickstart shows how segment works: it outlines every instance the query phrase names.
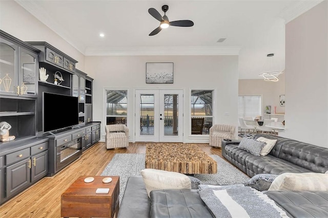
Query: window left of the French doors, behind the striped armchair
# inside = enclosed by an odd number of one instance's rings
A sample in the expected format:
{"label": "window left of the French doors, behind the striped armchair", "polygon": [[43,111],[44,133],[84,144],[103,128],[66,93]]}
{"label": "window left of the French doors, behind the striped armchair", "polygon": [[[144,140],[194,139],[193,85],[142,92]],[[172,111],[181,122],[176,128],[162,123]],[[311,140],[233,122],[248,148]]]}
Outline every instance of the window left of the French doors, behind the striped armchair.
{"label": "window left of the French doors, behind the striped armchair", "polygon": [[128,91],[106,90],[106,124],[127,124]]}

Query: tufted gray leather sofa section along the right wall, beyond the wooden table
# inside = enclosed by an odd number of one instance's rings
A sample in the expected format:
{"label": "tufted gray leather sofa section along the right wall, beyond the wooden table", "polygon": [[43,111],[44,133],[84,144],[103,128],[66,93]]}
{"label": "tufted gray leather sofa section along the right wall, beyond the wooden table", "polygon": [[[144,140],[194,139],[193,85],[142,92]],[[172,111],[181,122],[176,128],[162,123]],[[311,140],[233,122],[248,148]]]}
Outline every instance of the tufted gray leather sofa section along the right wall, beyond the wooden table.
{"label": "tufted gray leather sofa section along the right wall, beyond the wooden table", "polygon": [[240,140],[222,140],[222,156],[249,177],[260,173],[321,172],[328,170],[328,149],[283,137],[256,134],[254,139],[277,139],[267,156],[254,156],[238,148]]}

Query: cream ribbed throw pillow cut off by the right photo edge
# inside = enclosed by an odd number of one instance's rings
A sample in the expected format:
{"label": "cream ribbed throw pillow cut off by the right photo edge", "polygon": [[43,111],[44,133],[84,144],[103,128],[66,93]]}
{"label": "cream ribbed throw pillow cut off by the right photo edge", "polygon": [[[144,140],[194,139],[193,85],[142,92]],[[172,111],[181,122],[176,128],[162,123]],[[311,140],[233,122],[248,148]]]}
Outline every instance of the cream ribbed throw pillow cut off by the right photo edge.
{"label": "cream ribbed throw pillow cut off by the right photo edge", "polygon": [[328,175],[318,172],[280,174],[269,191],[328,191]]}

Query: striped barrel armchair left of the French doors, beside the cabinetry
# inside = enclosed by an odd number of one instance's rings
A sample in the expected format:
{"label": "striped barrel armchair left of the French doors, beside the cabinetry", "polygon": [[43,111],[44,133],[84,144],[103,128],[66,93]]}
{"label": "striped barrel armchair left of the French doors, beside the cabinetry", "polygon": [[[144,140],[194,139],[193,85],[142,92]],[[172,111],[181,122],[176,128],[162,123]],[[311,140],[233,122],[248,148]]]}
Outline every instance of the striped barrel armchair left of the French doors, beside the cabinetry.
{"label": "striped barrel armchair left of the French doors, beside the cabinetry", "polygon": [[122,148],[129,146],[129,128],[125,124],[106,125],[106,148]]}

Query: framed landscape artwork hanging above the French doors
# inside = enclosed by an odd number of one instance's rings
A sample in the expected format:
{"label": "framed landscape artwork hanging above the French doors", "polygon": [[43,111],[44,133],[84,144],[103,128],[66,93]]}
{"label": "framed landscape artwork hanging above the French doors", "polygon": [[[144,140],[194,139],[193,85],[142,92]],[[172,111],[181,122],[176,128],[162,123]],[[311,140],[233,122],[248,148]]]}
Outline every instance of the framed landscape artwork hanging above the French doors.
{"label": "framed landscape artwork hanging above the French doors", "polygon": [[173,62],[147,62],[146,83],[173,83]]}

